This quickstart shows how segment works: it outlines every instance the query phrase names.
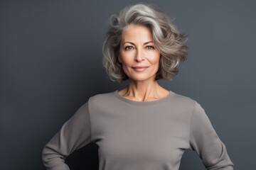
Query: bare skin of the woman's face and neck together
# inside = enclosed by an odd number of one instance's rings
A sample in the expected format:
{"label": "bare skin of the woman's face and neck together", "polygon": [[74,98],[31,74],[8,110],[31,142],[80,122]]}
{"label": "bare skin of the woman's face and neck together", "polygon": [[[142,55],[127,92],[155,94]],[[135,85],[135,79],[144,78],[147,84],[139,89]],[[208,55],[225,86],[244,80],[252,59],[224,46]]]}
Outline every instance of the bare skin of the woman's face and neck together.
{"label": "bare skin of the woman's face and neck together", "polygon": [[129,77],[127,87],[119,91],[120,96],[132,101],[156,101],[169,95],[156,81],[160,52],[149,28],[127,26],[122,33],[118,60]]}

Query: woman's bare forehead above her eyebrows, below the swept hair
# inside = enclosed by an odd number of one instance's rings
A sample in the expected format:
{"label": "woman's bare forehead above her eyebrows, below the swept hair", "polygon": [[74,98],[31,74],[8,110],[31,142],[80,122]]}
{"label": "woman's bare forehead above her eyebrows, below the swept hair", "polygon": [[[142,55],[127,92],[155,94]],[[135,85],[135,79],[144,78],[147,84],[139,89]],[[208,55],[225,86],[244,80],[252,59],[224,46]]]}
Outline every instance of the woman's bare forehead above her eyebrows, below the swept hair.
{"label": "woman's bare forehead above her eyebrows, below the swept hair", "polygon": [[122,41],[126,40],[152,40],[152,33],[146,26],[131,24],[124,29]]}

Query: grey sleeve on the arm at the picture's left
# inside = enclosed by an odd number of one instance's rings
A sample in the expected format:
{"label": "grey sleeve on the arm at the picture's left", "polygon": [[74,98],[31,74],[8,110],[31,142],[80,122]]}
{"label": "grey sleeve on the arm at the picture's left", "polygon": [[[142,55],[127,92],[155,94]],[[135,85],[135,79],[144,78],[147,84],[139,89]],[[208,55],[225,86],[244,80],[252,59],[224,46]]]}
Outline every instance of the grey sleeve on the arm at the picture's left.
{"label": "grey sleeve on the arm at the picture's left", "polygon": [[91,142],[90,113],[88,102],[62,126],[46,144],[42,152],[43,164],[48,170],[68,170],[65,158]]}

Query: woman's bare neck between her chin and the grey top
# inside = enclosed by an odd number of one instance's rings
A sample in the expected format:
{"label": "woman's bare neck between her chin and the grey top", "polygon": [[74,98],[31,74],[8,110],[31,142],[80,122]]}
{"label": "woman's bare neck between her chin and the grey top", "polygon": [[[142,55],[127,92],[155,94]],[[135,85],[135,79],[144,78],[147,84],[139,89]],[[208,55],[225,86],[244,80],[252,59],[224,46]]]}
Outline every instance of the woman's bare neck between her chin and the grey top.
{"label": "woman's bare neck between her chin and the grey top", "polygon": [[133,101],[156,101],[166,97],[169,91],[154,81],[134,81],[129,79],[126,88],[119,91],[121,96]]}

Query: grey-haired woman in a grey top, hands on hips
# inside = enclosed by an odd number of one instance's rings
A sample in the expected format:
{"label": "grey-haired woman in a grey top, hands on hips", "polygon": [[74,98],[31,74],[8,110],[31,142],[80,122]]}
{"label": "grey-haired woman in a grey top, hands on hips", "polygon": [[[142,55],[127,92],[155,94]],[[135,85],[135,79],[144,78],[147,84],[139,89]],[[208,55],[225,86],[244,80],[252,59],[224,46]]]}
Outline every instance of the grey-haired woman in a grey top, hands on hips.
{"label": "grey-haired woman in a grey top, hands on hips", "polygon": [[43,149],[47,169],[69,169],[65,157],[95,142],[100,170],[178,169],[193,149],[206,169],[233,169],[203,108],[159,86],[186,59],[185,36],[156,6],[128,6],[112,16],[103,64],[126,88],[92,96]]}

